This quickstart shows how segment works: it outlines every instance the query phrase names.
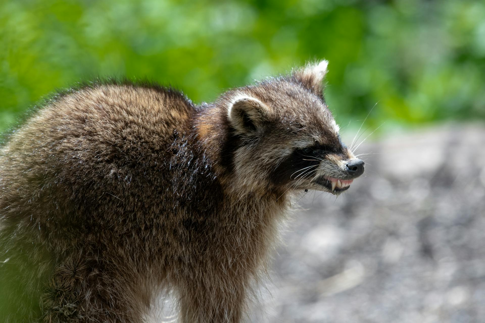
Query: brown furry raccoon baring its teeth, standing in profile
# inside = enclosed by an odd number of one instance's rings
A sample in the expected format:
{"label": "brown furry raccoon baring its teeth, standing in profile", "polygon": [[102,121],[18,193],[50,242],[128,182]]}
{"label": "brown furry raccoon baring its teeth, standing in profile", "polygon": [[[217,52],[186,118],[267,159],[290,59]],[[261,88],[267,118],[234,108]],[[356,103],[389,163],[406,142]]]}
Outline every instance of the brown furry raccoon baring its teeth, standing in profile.
{"label": "brown furry raccoon baring its teeth, standing in profile", "polygon": [[291,200],[364,171],[323,98],[327,62],[194,105],[97,82],[34,112],[0,152],[4,322],[238,323]]}

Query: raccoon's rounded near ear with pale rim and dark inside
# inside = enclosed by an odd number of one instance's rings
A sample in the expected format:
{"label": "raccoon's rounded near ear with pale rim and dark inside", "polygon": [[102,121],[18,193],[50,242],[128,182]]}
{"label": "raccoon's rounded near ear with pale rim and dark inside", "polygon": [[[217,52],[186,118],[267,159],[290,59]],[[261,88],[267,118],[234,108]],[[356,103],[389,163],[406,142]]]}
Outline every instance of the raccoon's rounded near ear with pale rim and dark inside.
{"label": "raccoon's rounded near ear with pale rim and dark inside", "polygon": [[227,117],[237,132],[254,135],[262,128],[267,113],[268,107],[258,99],[240,96],[229,105]]}

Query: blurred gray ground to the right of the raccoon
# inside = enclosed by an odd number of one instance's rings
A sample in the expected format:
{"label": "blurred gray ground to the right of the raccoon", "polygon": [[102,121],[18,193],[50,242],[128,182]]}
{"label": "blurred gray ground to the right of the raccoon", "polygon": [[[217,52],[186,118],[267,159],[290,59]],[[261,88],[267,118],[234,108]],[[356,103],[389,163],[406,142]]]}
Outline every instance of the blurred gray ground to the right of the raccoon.
{"label": "blurred gray ground to the right of the raccoon", "polygon": [[349,191],[298,202],[253,322],[485,322],[485,126],[368,152]]}

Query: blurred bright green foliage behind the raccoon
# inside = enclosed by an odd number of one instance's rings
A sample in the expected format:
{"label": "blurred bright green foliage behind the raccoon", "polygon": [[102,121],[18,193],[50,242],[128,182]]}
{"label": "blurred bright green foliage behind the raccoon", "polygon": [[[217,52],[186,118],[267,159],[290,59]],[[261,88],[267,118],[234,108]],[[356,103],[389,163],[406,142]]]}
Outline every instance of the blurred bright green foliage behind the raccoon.
{"label": "blurred bright green foliage behind the raccoon", "polygon": [[330,61],[339,123],[485,119],[485,2],[11,0],[0,3],[0,128],[97,76],[148,78],[195,102]]}

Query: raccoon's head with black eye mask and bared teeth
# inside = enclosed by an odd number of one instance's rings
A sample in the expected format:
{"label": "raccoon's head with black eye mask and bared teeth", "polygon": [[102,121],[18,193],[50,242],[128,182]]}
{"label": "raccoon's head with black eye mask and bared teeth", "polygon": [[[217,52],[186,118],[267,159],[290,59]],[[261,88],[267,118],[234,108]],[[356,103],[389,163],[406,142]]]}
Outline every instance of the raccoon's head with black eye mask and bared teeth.
{"label": "raccoon's head with black eye mask and bared teeth", "polygon": [[323,98],[327,61],[227,93],[232,172],[245,186],[339,194],[364,172]]}

